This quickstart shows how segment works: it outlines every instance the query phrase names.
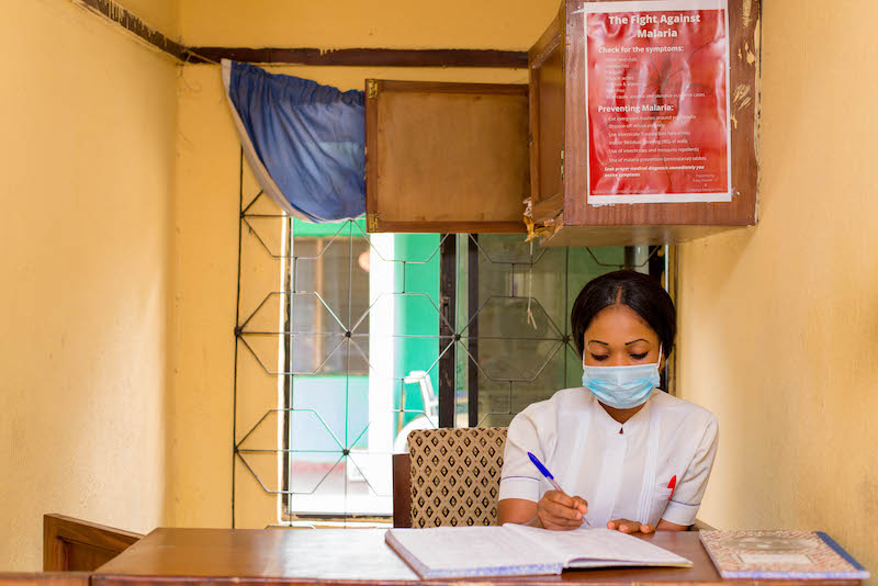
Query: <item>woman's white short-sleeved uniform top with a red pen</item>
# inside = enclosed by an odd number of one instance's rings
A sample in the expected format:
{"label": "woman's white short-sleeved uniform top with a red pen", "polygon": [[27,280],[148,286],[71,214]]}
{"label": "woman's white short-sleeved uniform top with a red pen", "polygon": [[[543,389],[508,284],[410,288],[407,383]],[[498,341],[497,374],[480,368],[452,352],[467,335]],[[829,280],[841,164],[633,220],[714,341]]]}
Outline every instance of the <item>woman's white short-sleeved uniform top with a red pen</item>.
{"label": "woman's white short-sleeved uniform top with a red pen", "polygon": [[[621,433],[620,433],[621,431]],[[588,502],[592,527],[628,519],[691,525],[717,453],[717,418],[653,390],[624,424],[587,388],[565,388],[516,415],[506,438],[499,499],[538,502],[552,486],[527,452],[565,493]],[[676,487],[667,488],[676,476]]]}

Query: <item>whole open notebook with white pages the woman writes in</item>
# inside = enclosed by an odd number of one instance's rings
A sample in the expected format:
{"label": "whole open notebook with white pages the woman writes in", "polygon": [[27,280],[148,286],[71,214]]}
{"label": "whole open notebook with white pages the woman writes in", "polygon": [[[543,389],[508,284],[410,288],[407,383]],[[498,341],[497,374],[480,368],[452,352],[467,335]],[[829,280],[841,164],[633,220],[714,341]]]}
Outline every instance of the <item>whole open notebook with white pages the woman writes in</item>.
{"label": "whole open notebook with white pages the woman writes in", "polygon": [[565,567],[675,566],[691,562],[609,529],[503,527],[389,529],[384,540],[423,578],[561,574]]}

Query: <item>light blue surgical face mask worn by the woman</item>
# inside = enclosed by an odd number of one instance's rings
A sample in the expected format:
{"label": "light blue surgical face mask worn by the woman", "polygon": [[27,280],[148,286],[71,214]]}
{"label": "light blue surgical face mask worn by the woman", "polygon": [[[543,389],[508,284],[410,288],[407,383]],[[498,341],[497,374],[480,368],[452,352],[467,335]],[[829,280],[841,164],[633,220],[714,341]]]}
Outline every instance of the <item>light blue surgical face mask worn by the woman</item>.
{"label": "light blue surgical face mask worn by the woman", "polygon": [[[658,351],[658,362],[662,352]],[[583,364],[583,386],[603,404],[617,409],[640,407],[658,386],[658,362],[633,367],[586,367]]]}

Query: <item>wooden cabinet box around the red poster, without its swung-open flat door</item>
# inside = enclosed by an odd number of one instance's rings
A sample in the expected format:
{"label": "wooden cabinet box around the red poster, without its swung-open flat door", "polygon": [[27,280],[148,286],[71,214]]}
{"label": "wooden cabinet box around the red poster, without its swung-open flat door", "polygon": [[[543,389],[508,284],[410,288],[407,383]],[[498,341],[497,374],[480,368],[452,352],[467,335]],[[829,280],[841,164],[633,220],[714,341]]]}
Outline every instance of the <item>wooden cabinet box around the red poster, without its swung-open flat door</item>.
{"label": "wooden cabinet box around the red poster, without its swung-open flat door", "polygon": [[718,203],[588,204],[582,9],[564,2],[528,56],[532,214],[549,228],[543,245],[675,244],[755,224],[759,2],[729,2],[732,200]]}

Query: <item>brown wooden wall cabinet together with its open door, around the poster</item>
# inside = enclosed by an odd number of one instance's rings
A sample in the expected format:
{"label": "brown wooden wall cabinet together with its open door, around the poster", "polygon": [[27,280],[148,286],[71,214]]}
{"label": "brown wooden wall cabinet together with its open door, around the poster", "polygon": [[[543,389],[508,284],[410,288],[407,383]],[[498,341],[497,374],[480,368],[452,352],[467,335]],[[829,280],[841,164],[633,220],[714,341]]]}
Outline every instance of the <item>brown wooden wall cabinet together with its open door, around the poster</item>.
{"label": "brown wooden wall cabinet together with its open door, around the poster", "polygon": [[603,206],[586,198],[583,4],[565,0],[531,47],[527,101],[516,86],[368,83],[371,232],[521,232],[528,196],[543,246],[675,244],[756,223],[759,0],[729,3],[731,201]]}

